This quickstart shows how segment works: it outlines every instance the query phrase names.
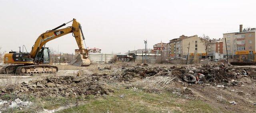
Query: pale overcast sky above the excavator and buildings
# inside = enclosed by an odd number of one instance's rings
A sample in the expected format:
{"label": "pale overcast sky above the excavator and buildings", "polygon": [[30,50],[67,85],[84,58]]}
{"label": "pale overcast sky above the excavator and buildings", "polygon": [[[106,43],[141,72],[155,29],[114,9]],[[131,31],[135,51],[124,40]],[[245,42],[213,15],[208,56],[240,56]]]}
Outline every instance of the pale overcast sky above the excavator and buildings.
{"label": "pale overcast sky above the excavator and buildings", "polygon": [[[125,53],[168,43],[180,35],[209,35],[256,27],[255,0],[0,0],[0,47],[28,51],[46,30],[76,18],[86,45],[103,53]],[[66,25],[71,26],[72,23]],[[72,34],[46,44],[64,53],[78,49]]]}

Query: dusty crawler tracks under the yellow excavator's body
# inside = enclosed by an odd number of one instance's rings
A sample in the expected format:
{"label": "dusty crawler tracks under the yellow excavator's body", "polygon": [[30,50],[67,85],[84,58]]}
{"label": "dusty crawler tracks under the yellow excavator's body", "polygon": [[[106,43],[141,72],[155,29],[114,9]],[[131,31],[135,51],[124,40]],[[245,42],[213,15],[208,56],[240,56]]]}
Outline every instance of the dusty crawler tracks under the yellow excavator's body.
{"label": "dusty crawler tracks under the yellow excavator's body", "polygon": [[0,71],[3,74],[16,75],[54,74],[58,72],[58,67],[48,65],[11,65],[2,67]]}

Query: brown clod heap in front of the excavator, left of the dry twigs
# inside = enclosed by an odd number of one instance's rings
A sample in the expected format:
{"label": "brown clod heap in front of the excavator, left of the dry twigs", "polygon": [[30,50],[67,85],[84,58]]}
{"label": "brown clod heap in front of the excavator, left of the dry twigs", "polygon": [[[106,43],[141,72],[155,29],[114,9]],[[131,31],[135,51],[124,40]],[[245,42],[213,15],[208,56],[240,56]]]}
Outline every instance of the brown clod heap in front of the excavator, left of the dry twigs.
{"label": "brown clod heap in front of the excavator, left of the dry twigs", "polygon": [[17,88],[2,89],[2,93],[25,93],[35,96],[103,95],[113,92],[98,76],[64,76],[35,79],[19,84]]}

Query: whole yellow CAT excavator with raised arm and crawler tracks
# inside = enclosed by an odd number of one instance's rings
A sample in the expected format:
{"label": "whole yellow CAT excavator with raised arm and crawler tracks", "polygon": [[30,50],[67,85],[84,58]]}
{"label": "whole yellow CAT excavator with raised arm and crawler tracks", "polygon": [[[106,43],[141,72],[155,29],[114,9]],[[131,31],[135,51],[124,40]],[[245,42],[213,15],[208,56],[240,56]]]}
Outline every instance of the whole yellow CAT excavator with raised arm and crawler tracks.
{"label": "whole yellow CAT excavator with raised arm and crawler tracks", "polygon": [[[64,29],[59,29],[60,27],[66,25],[67,23],[72,22],[72,26],[66,27]],[[70,62],[74,66],[89,66],[90,60],[88,57],[88,50],[85,48],[85,37],[82,32],[82,27],[76,19],[72,19],[67,23],[48,30],[45,33],[42,33],[37,39],[35,44],[32,47],[30,53],[26,52],[13,52],[4,55],[4,63],[12,64],[9,66],[3,66],[0,70],[0,73],[3,74],[51,74],[58,72],[57,66],[45,65],[50,63],[50,51],[48,47],[45,47],[48,41],[72,33],[73,37],[76,39],[76,43],[79,48],[80,54]],[[83,44],[84,41],[84,44]],[[25,47],[26,49],[26,47]],[[40,64],[40,65],[39,65]]]}

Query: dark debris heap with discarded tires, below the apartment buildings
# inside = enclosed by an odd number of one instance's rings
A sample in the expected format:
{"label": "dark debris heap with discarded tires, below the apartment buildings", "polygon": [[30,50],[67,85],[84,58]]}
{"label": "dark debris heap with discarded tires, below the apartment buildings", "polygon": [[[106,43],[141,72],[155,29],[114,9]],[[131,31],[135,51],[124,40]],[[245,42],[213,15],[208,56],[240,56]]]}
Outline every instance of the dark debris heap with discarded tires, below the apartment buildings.
{"label": "dark debris heap with discarded tires, below the apartment buildings", "polygon": [[[125,69],[122,73],[115,73],[110,79],[129,82],[134,78],[143,79],[150,76],[171,76],[176,80],[184,80],[188,83],[212,83],[241,85],[236,79],[247,77],[249,73],[256,72],[245,68],[237,68],[230,64],[208,64],[208,65],[181,65],[170,67],[135,67]],[[102,76],[102,75],[101,75]],[[106,76],[106,75],[105,75]]]}

